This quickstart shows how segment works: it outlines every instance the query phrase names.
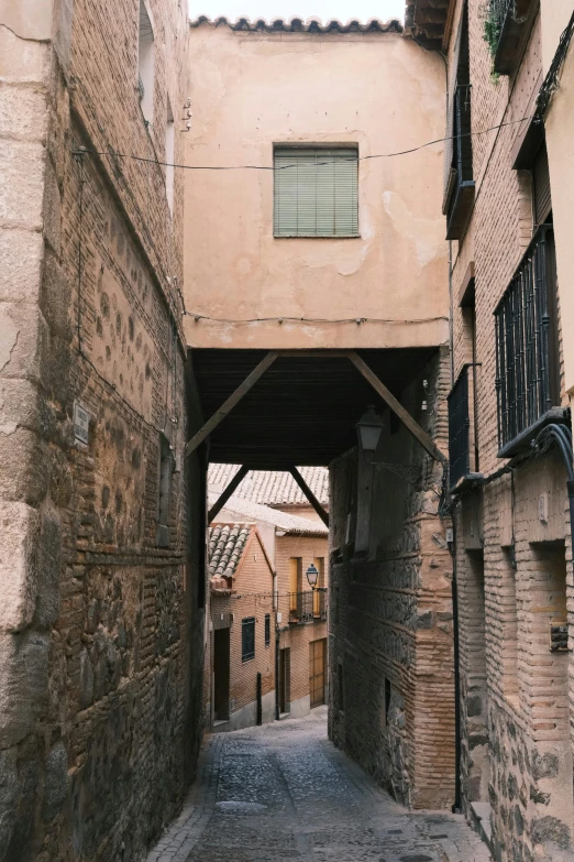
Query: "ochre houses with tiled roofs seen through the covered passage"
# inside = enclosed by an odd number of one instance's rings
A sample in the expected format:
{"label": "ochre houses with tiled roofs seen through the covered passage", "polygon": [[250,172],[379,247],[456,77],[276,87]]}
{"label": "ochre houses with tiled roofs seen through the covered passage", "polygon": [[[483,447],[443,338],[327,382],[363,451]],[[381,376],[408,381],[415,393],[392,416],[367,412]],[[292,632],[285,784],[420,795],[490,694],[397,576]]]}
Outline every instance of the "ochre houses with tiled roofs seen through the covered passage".
{"label": "ochre houses with tiled roofs seen through the covered passage", "polygon": [[[223,467],[228,466],[212,466],[210,479],[224,480],[234,473],[233,468],[223,470]],[[314,477],[307,471],[306,479],[314,478],[316,492],[324,498],[325,471],[312,470]],[[265,480],[263,476],[255,474],[251,484],[250,477],[245,478],[247,498],[268,495],[276,502],[287,501],[291,509],[307,509],[302,495],[300,500],[284,474],[268,474]],[[213,487],[218,488],[216,493],[211,490]],[[239,492],[242,487],[243,483]],[[216,502],[219,490],[219,484],[210,484],[210,505]],[[306,570],[314,564],[319,570],[317,586],[327,588],[328,530],[319,519],[311,521],[252,502],[252,499],[233,495],[210,527],[207,610],[210,633],[203,703],[206,723],[214,730],[255,724],[257,690],[262,698],[262,721],[271,721],[276,714],[283,718],[305,716],[311,708],[327,702],[327,592],[313,593]],[[260,550],[254,552],[254,547]],[[223,572],[227,581],[221,579]],[[245,657],[240,635],[244,620],[255,632],[255,654],[251,657]],[[262,625],[265,632],[271,632],[271,652],[266,639],[263,651],[257,646]],[[274,663],[271,683],[269,656]],[[261,689],[257,689],[258,674]],[[225,707],[228,688],[229,706]]]}

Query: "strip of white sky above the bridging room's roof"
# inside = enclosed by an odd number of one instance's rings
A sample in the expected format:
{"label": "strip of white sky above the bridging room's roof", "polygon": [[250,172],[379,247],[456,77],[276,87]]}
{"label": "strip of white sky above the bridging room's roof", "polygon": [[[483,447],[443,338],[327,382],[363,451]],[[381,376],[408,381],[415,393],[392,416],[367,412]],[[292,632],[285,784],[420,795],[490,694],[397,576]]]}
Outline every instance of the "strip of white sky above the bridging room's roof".
{"label": "strip of white sky above the bridging room's roof", "polygon": [[371,18],[387,21],[389,18],[402,20],[405,0],[189,0],[189,17],[225,18],[320,18],[330,21],[333,18],[347,21],[357,18],[362,22]]}

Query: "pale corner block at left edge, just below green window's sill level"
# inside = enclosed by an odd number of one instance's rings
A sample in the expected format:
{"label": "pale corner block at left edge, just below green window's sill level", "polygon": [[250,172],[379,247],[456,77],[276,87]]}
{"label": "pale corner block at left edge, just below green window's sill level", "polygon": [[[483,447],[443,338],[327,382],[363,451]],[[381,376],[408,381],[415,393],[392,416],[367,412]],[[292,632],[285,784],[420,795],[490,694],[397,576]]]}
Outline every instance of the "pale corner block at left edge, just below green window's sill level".
{"label": "pale corner block at left edge, just below green window's sill level", "polygon": [[0,298],[37,302],[44,240],[32,230],[0,230]]}

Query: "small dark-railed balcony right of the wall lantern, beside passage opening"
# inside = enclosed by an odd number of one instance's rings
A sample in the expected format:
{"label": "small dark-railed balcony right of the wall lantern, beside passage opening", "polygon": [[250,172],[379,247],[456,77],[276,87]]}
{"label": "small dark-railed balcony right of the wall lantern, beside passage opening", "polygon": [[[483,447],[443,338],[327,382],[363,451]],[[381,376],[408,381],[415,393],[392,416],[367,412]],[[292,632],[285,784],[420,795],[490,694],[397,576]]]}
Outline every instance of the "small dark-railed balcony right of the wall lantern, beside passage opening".
{"label": "small dark-railed balcony right of the wall lantern, beside passage opening", "polygon": [[478,478],[475,430],[476,365],[463,365],[449,395],[449,467],[451,491],[464,480]]}

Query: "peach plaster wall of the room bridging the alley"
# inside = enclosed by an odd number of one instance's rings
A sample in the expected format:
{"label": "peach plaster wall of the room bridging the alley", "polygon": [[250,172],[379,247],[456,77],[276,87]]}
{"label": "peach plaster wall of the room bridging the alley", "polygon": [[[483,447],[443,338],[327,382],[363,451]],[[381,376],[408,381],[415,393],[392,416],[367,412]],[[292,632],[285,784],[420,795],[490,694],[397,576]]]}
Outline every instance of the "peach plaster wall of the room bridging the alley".
{"label": "peach plaster wall of the room bridging the alley", "polygon": [[[442,61],[400,34],[265,34],[201,23],[190,29],[188,72],[189,165],[269,168],[275,143],[355,143],[366,159],[443,135]],[[273,171],[186,172],[186,307],[212,318],[187,318],[189,345],[444,342],[441,177],[440,143],[361,161],[358,238],[276,239]],[[278,317],[283,324],[247,323]],[[357,325],[357,317],[377,323]]]}

